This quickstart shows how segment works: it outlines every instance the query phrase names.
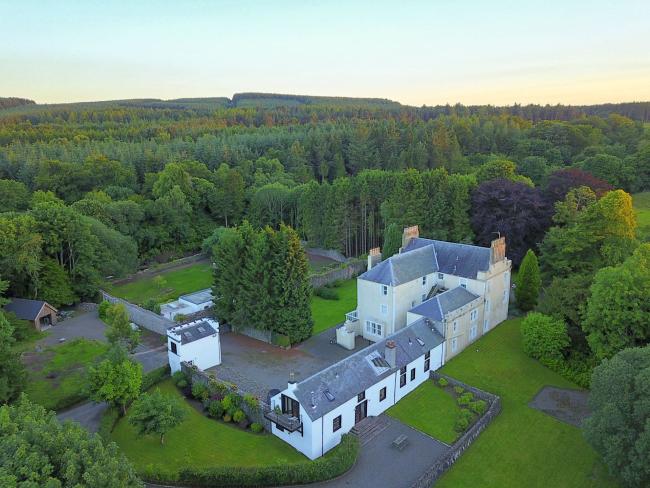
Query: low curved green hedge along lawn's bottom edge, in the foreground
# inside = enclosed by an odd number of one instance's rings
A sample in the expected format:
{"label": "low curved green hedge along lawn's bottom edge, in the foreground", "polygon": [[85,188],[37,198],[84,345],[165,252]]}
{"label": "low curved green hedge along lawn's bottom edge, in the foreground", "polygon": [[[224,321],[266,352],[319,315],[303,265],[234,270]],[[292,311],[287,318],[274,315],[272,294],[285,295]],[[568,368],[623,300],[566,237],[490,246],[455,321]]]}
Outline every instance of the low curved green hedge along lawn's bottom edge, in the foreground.
{"label": "low curved green hedge along lawn's bottom edge, in the foreground", "polygon": [[[287,446],[290,449],[289,446]],[[176,486],[229,487],[302,485],[325,481],[342,475],[356,462],[359,440],[345,434],[341,443],[314,461],[264,467],[183,468],[176,475],[157,472],[151,466],[141,473],[150,483]]]}

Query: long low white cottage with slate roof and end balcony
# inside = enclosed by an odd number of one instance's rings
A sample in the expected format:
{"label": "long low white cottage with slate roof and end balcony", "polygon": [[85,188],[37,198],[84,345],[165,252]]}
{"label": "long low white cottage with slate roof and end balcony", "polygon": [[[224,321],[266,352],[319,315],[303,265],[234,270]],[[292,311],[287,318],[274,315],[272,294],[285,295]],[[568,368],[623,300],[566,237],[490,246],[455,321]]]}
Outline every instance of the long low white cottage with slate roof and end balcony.
{"label": "long low white cottage with slate roof and end balcony", "polygon": [[438,324],[421,318],[271,398],[272,432],[310,459],[395,405],[444,363]]}

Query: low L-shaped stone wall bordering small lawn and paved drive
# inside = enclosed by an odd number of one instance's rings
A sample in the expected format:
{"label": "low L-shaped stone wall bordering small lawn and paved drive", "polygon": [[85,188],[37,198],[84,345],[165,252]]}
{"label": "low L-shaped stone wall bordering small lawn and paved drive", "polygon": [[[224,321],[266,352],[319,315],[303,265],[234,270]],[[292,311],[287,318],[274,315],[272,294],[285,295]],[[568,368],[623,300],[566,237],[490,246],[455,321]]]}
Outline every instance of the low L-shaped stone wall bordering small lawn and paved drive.
{"label": "low L-shaped stone wall bordering small lawn and paved drive", "polygon": [[437,459],[420,477],[411,485],[411,488],[430,488],[433,483],[442,476],[456,462],[456,460],[465,452],[465,450],[472,445],[476,438],[485,430],[485,428],[492,422],[499,412],[501,412],[501,398],[493,395],[492,393],[479,390],[473,386],[466,385],[462,381],[450,378],[447,375],[430,373],[432,381],[437,381],[440,378],[445,378],[449,381],[450,385],[462,386],[465,390],[470,391],[476,398],[485,400],[489,407],[483,416],[472,425],[467,432],[454,442],[451,448],[439,459]]}

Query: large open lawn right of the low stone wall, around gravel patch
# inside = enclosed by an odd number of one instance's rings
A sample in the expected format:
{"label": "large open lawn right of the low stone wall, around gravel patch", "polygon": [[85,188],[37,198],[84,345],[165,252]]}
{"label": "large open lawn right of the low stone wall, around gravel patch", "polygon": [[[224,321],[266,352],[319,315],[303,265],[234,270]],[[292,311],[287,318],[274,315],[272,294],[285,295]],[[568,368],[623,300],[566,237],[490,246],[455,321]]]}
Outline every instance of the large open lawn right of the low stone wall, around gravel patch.
{"label": "large open lawn right of the low stone wall, around gravel patch", "polygon": [[545,385],[577,386],[523,353],[520,322],[502,323],[443,367],[501,396],[502,411],[436,488],[617,486],[580,429],[528,406]]}

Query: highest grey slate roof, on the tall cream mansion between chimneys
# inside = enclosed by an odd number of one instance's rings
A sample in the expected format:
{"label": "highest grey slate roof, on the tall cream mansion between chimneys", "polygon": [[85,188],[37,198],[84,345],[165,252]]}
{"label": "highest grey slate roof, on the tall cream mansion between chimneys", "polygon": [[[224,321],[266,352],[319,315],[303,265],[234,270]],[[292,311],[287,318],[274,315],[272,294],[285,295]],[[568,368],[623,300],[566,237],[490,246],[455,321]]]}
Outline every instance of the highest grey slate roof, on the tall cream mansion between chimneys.
{"label": "highest grey slate roof, on the tall cream mansion between chimneys", "polygon": [[397,286],[425,274],[440,272],[475,279],[490,267],[490,248],[416,237],[396,254],[359,278]]}

